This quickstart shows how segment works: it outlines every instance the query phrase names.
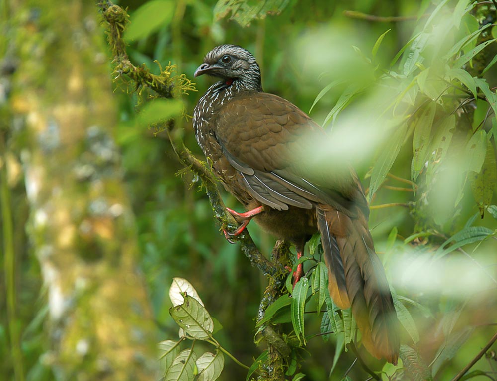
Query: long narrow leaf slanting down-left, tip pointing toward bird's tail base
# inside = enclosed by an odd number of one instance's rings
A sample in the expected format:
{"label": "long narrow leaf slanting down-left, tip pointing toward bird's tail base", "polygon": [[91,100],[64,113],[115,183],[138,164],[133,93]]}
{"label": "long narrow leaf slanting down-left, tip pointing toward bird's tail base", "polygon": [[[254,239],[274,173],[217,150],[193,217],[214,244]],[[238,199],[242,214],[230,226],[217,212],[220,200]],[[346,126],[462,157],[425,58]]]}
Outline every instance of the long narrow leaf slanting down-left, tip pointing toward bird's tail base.
{"label": "long narrow leaf slanting down-left, tip pointing toward bird's tail base", "polygon": [[399,151],[404,144],[406,139],[406,133],[408,130],[407,124],[403,124],[398,127],[397,130],[393,133],[392,138],[387,142],[385,147],[380,153],[378,160],[376,160],[373,170],[371,171],[371,180],[369,183],[369,194],[368,194],[368,202],[371,202],[371,198],[374,193],[378,190],[380,185],[385,180],[385,177],[392,168]]}

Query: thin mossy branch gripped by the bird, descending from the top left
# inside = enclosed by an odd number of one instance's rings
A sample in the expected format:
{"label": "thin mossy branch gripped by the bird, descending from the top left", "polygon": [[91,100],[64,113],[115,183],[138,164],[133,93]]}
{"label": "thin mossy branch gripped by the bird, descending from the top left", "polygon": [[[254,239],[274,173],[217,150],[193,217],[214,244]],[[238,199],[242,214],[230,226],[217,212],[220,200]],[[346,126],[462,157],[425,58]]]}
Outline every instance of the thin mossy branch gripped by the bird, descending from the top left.
{"label": "thin mossy branch gripped by the bird, descending from the top left", "polygon": [[[164,70],[161,68],[160,75],[152,74],[145,65],[140,67],[133,65],[129,60],[126,52],[126,43],[123,39],[126,24],[129,22],[128,14],[123,8],[113,4],[111,1],[98,0],[97,5],[101,9],[103,21],[107,27],[108,43],[113,55],[112,62],[115,65],[115,79],[121,78],[126,83],[129,83],[129,80],[123,78],[123,76],[126,75],[131,82],[136,85],[136,89],[139,93],[142,89],[148,88],[156,92],[158,97],[162,98],[173,98],[180,94],[184,94],[187,91],[195,90],[194,83],[191,82],[186,75],[180,74],[172,76],[175,68],[174,65],[169,64]],[[173,137],[177,135],[171,133],[173,126],[174,123],[170,123],[167,132],[172,147],[180,162],[201,179],[202,185],[205,187],[209,201],[215,212],[215,216],[220,221],[221,225],[223,227],[236,226],[237,222],[233,216],[226,211],[226,207],[224,206],[216,186],[217,181],[210,168],[206,163],[198,160],[191,154],[185,147],[181,138]],[[264,275],[275,275],[282,272],[281,265],[269,261],[260,253],[247,231],[240,235],[238,240],[242,245],[242,250],[248,259],[250,259],[252,265],[262,271]]]}

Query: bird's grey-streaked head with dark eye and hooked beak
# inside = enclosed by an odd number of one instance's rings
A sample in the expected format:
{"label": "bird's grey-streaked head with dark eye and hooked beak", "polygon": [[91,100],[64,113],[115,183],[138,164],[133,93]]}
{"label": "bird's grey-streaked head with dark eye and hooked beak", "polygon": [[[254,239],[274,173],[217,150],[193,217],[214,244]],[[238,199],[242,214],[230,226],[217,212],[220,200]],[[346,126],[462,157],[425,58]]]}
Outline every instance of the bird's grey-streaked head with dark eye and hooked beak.
{"label": "bird's grey-streaked head with dark eye and hooked beak", "polygon": [[238,45],[220,45],[205,55],[204,63],[194,77],[212,75],[231,84],[238,81],[242,88],[261,91],[260,69],[255,57]]}

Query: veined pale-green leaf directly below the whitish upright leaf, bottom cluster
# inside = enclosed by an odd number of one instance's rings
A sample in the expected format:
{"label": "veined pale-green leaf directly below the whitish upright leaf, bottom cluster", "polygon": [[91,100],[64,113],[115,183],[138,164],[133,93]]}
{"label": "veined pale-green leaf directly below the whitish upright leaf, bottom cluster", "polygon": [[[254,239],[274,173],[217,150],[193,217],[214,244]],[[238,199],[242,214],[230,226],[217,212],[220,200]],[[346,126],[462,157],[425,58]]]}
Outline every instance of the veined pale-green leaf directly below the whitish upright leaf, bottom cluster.
{"label": "veined pale-green leaf directly below the whitish upright leaf, bottom cluster", "polygon": [[211,337],[214,322],[200,302],[186,295],[184,303],[169,309],[174,321],[191,337],[206,340]]}

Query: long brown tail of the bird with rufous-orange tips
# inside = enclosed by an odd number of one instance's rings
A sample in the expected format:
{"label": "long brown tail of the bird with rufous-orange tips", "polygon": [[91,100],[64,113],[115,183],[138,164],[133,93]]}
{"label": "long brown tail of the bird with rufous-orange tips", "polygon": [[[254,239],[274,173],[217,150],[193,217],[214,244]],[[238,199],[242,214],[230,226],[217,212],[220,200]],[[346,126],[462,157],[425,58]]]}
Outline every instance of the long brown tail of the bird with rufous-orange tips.
{"label": "long brown tail of the bird with rufous-orange tips", "polygon": [[328,287],[333,301],[340,308],[342,301],[349,301],[364,347],[373,356],[395,364],[399,356],[399,322],[366,218],[351,219],[328,205],[320,205],[316,214],[325,262],[331,273]]}

